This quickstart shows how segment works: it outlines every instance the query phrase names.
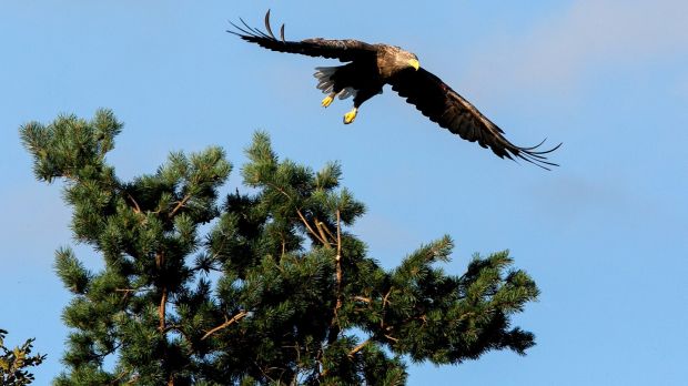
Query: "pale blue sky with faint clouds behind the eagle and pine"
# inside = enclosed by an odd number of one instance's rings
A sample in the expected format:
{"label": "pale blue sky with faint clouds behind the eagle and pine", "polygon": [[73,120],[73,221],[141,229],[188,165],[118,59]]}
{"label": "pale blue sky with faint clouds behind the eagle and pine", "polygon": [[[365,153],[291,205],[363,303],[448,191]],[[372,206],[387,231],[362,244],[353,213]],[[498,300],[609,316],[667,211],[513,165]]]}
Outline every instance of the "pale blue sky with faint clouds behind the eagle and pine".
{"label": "pale blue sky with faint clouds behind the eagle and pine", "polygon": [[[267,8],[287,39],[403,45],[516,144],[564,142],[561,166],[499,160],[388,89],[343,125],[351,100],[322,109],[312,78],[336,62],[224,32],[239,17],[261,27]],[[368,209],[354,231],[385,266],[445,233],[455,274],[474,252],[509,248],[542,290],[516,318],[537,346],[413,365],[411,385],[685,385],[687,14],[685,0],[2,0],[0,328],[49,355],[38,385],[61,370],[70,297],[52,263],[74,244],[70,211],[59,184],[34,181],[17,130],[103,106],[125,123],[109,158],[123,179],[212,144],[240,166],[262,129],[283,158],[341,161]]]}

